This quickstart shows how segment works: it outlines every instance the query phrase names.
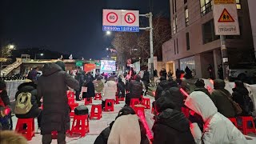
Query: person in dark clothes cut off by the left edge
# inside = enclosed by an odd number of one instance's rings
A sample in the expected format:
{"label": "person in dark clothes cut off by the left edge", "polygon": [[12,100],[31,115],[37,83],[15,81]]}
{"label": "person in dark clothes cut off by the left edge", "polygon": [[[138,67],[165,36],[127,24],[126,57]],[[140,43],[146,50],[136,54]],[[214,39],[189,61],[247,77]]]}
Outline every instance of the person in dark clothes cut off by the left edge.
{"label": "person in dark clothes cut off by the left edge", "polygon": [[[7,122],[5,124],[2,123],[2,130],[13,130],[13,121],[11,118],[11,107],[10,107],[10,98],[6,91],[6,82],[4,80],[0,80],[0,106],[5,109],[9,109],[10,113],[6,115]],[[1,124],[1,123],[0,123]]]}

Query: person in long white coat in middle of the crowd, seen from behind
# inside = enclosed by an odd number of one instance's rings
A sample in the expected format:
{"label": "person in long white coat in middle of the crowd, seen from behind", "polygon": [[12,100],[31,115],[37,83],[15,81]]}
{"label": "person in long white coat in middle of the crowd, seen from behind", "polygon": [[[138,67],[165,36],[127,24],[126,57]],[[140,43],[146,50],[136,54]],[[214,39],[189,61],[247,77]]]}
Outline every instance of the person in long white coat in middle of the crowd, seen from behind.
{"label": "person in long white coat in middle of the crowd, seen from behind", "polygon": [[102,110],[105,108],[106,99],[115,99],[117,93],[117,83],[114,81],[114,77],[111,76],[104,85],[102,94]]}

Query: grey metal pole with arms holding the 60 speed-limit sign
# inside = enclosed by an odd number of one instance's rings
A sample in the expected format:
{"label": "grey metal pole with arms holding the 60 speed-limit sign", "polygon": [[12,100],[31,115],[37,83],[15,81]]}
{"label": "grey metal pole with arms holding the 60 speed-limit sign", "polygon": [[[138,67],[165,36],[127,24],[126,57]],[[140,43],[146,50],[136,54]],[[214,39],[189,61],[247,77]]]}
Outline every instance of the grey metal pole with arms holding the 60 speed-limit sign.
{"label": "grey metal pole with arms holding the 60 speed-limit sign", "polygon": [[149,18],[150,27],[142,27],[140,30],[150,30],[150,73],[151,78],[154,78],[154,43],[153,43],[153,14],[139,14],[141,17]]}

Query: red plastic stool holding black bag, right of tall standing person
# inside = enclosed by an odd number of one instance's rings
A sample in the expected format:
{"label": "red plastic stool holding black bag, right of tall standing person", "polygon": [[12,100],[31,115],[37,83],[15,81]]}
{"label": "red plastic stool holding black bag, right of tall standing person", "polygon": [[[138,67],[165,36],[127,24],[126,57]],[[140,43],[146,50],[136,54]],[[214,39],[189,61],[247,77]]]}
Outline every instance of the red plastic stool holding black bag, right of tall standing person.
{"label": "red plastic stool holding black bag, right of tall standing person", "polygon": [[81,137],[86,136],[89,133],[89,120],[88,115],[74,115],[74,121],[70,131],[70,135],[76,133],[81,134]]}

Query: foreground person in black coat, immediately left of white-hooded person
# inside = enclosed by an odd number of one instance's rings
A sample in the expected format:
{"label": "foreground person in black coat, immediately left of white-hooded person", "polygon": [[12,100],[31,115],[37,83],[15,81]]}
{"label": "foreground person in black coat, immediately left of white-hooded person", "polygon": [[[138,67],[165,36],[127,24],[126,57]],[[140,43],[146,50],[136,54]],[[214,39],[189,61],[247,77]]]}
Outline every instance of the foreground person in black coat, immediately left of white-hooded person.
{"label": "foreground person in black coat, immediately left of white-hooded person", "polygon": [[174,103],[169,98],[161,97],[155,102],[153,144],[194,144],[190,132],[190,122],[181,111],[174,110]]}

